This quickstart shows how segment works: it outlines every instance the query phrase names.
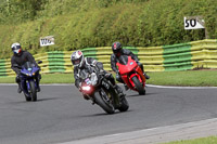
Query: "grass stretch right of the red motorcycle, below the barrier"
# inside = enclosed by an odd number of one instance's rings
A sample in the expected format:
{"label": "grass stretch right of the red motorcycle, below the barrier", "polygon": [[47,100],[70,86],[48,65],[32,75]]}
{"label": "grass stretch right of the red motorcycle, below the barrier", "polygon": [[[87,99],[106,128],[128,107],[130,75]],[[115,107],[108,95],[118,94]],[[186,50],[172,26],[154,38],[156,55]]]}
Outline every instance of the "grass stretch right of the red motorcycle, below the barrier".
{"label": "grass stretch right of the red motorcycle, below the barrier", "polygon": [[216,70],[187,70],[148,73],[150,84],[186,86],[186,87],[217,87]]}

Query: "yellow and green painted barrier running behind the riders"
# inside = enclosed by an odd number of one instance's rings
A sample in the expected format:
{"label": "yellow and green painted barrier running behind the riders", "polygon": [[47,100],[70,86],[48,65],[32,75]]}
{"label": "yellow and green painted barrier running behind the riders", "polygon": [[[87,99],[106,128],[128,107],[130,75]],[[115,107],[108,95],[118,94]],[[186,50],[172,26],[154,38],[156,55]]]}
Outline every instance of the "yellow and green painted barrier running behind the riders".
{"label": "yellow and green painted barrier running behind the riders", "polygon": [[[145,71],[175,71],[194,68],[217,68],[217,40],[205,39],[189,43],[162,47],[124,47],[138,55]],[[85,56],[102,62],[105,70],[111,69],[111,47],[86,48]],[[43,63],[41,74],[73,73],[71,54],[73,51],[52,51],[34,55]],[[15,76],[11,69],[11,60],[0,60],[0,77]]]}

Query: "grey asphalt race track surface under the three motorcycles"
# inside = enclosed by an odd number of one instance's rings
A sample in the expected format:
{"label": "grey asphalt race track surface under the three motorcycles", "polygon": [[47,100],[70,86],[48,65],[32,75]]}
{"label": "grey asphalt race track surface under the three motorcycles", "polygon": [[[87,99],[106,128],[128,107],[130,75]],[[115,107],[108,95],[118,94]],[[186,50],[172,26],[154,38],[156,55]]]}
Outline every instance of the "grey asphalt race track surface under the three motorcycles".
{"label": "grey asphalt race track surface under the three motorcycles", "polygon": [[47,144],[150,130],[217,118],[217,89],[146,88],[127,91],[129,110],[106,115],[72,84],[41,86],[25,102],[16,86],[0,86],[0,143]]}

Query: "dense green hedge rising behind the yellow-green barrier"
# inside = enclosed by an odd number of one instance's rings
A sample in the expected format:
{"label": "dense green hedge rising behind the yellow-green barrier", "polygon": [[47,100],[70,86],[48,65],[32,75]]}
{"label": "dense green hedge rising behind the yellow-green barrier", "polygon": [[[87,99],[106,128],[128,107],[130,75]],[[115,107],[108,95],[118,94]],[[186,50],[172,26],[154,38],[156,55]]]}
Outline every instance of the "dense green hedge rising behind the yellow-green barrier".
{"label": "dense green hedge rising behind the yellow-green barrier", "polygon": [[[31,53],[124,45],[164,45],[204,39],[204,29],[184,30],[183,16],[202,15],[217,38],[216,0],[2,0],[0,58],[21,42]],[[39,38],[55,45],[40,48]]]}

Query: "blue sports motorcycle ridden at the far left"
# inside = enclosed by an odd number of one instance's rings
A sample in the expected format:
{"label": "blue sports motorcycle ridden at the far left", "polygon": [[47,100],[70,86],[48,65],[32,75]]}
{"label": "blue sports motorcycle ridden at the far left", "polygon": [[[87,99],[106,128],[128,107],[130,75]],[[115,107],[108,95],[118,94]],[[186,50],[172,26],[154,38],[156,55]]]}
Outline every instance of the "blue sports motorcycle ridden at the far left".
{"label": "blue sports motorcycle ridden at the far left", "polygon": [[[38,64],[40,63],[42,63],[42,61],[38,62]],[[26,101],[37,101],[39,70],[40,68],[30,62],[26,62],[21,67],[21,89],[26,97]]]}

